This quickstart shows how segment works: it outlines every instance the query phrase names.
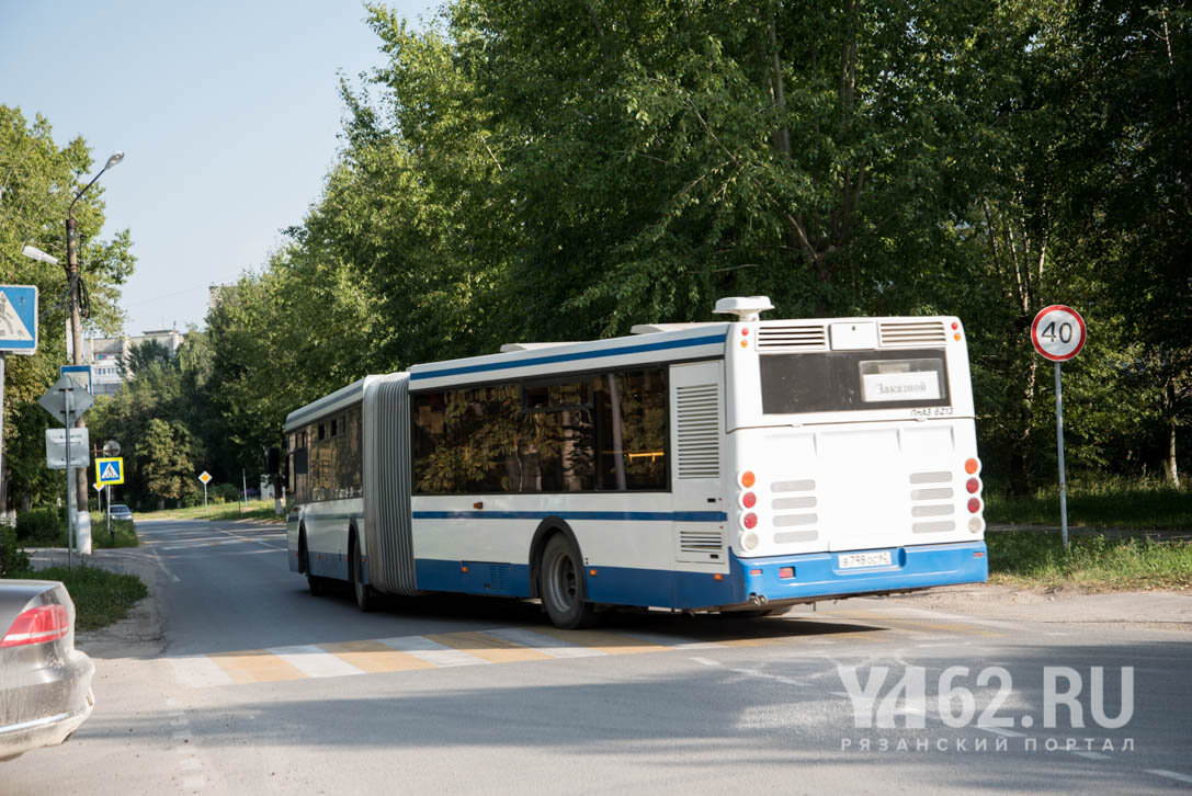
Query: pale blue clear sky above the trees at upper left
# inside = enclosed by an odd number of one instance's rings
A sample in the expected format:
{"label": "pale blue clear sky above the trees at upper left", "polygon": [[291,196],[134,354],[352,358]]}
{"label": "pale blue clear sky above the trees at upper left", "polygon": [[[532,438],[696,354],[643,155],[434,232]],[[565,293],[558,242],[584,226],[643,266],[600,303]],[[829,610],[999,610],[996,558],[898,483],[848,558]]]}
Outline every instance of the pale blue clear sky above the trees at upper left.
{"label": "pale blue clear sky above the trees at upper left", "polygon": [[[439,4],[386,5],[421,26]],[[0,0],[0,104],[43,114],[60,147],[82,136],[92,175],[124,151],[97,185],[103,236],[129,229],[137,257],[126,334],[201,328],[207,287],[259,270],[302,222],[340,145],[340,74],[383,64],[365,14],[358,0]]]}

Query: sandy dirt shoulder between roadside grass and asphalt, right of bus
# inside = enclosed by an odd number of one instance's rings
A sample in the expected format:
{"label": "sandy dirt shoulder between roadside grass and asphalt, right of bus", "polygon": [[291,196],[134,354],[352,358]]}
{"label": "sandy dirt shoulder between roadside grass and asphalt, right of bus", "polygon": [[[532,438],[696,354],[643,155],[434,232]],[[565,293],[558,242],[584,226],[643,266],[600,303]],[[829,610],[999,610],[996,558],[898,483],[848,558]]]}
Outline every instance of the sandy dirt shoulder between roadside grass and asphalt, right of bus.
{"label": "sandy dirt shoulder between roadside grass and asphalt, right of bus", "polygon": [[1192,592],[943,586],[883,602],[981,618],[1056,624],[1110,624],[1192,633]]}

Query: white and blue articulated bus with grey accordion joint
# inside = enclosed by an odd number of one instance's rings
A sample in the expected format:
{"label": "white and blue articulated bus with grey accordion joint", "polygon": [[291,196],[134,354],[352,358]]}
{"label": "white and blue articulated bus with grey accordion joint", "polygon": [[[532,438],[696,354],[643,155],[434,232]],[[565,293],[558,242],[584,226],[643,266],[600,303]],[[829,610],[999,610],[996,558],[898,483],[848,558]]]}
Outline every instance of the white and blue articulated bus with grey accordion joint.
{"label": "white and blue articulated bus with grey accordion joint", "polygon": [[290,568],[319,593],[759,615],[987,578],[955,317],[760,319],[517,343],[286,418]]}

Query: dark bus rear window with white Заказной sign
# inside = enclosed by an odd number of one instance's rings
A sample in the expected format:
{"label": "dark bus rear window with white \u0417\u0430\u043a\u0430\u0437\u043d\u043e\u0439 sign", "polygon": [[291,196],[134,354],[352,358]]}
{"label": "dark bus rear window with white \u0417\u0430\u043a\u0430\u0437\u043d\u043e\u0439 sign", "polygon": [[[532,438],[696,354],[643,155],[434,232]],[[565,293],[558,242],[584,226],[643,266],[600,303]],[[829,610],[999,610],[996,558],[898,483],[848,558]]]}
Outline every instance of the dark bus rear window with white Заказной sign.
{"label": "dark bus rear window with white \u0417\u0430\u043a\u0430\u0437\u043d\u043e\u0439 sign", "polygon": [[943,349],[763,354],[765,415],[948,406]]}

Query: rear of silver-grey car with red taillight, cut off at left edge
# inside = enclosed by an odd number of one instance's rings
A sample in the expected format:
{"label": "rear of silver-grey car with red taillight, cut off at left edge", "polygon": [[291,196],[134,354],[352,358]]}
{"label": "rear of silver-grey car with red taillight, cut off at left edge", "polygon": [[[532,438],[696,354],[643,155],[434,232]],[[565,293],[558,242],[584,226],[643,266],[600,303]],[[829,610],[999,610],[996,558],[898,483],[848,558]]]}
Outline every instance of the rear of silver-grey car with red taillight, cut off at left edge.
{"label": "rear of silver-grey car with red taillight, cut off at left edge", "polygon": [[95,665],[74,620],[61,583],[0,579],[0,760],[57,746],[91,715]]}

